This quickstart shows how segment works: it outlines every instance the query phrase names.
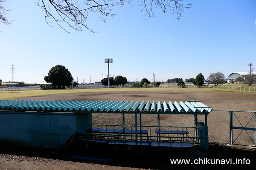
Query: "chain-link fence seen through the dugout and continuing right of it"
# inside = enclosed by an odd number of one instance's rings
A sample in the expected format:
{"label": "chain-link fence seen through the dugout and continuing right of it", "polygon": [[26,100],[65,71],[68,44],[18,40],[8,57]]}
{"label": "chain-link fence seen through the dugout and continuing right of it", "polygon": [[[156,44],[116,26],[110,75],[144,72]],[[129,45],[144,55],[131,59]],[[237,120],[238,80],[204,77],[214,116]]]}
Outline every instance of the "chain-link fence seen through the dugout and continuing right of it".
{"label": "chain-link fence seen through the dugout and continuing right of it", "polygon": [[[141,120],[140,120],[141,115]],[[255,112],[211,111],[207,116],[209,142],[256,145]],[[93,126],[110,129],[135,129],[134,113],[93,113]],[[148,130],[148,139],[159,140],[156,130],[185,130],[185,140],[194,141],[196,136],[194,115],[183,114],[145,114],[137,113],[138,130]],[[140,124],[141,122],[141,124]],[[205,116],[198,115],[198,122],[205,123]],[[161,134],[164,139],[180,141],[183,136]],[[145,136],[140,137],[146,140]]]}

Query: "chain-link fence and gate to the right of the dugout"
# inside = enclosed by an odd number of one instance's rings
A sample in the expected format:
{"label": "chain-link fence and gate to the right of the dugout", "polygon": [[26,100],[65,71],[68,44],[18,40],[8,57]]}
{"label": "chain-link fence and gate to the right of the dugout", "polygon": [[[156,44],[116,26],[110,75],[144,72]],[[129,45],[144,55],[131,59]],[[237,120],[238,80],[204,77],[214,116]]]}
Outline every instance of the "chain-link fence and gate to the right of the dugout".
{"label": "chain-link fence and gate to the right of the dugout", "polygon": [[256,112],[211,111],[209,142],[256,147]]}

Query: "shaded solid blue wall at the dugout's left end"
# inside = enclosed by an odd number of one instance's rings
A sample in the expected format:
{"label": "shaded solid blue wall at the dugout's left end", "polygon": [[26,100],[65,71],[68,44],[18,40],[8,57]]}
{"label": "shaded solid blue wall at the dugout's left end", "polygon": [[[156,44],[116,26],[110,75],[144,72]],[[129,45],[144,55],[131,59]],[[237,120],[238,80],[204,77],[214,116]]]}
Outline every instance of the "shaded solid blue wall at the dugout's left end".
{"label": "shaded solid blue wall at the dugout's left end", "polygon": [[58,149],[91,125],[89,113],[0,112],[0,144]]}

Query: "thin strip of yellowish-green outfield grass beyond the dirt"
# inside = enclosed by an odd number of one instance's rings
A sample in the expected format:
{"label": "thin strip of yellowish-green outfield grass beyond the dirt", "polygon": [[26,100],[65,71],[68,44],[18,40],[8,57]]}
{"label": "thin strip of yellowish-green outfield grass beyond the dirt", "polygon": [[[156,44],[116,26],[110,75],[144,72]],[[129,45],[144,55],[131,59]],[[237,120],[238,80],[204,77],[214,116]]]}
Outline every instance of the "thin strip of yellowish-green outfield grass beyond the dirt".
{"label": "thin strip of yellowish-green outfield grass beyond the dirt", "polygon": [[208,91],[203,89],[186,88],[91,88],[91,89],[63,89],[63,90],[26,90],[26,91],[0,91],[0,99],[17,97],[43,96],[49,94],[108,92],[108,91]]}

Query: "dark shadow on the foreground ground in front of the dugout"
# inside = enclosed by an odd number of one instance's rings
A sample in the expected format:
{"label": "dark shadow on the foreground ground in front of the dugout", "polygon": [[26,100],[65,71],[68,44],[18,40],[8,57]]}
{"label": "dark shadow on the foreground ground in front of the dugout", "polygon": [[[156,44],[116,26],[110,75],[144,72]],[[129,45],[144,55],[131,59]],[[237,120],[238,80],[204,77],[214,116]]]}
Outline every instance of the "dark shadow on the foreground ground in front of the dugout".
{"label": "dark shadow on the foreground ground in front of the dugout", "polygon": [[[158,170],[199,170],[199,169],[230,169],[231,167],[255,168],[256,151],[253,149],[227,147],[220,144],[210,144],[207,158],[195,146],[193,149],[176,148],[93,148],[79,149],[79,151],[59,153],[55,150],[38,149],[31,147],[10,147],[0,145],[0,154],[41,157],[64,161],[77,161],[84,163],[110,165],[116,167],[131,167]],[[90,156],[95,159],[110,158],[109,161],[93,161],[87,159],[72,159],[71,156]],[[189,164],[172,164],[171,159],[187,159]],[[217,159],[217,162],[216,162]],[[241,160],[240,160],[241,159]],[[219,160],[219,162],[218,162]],[[239,160],[239,164],[238,161]],[[249,163],[250,164],[247,164]],[[215,161],[215,164],[210,164]]]}

